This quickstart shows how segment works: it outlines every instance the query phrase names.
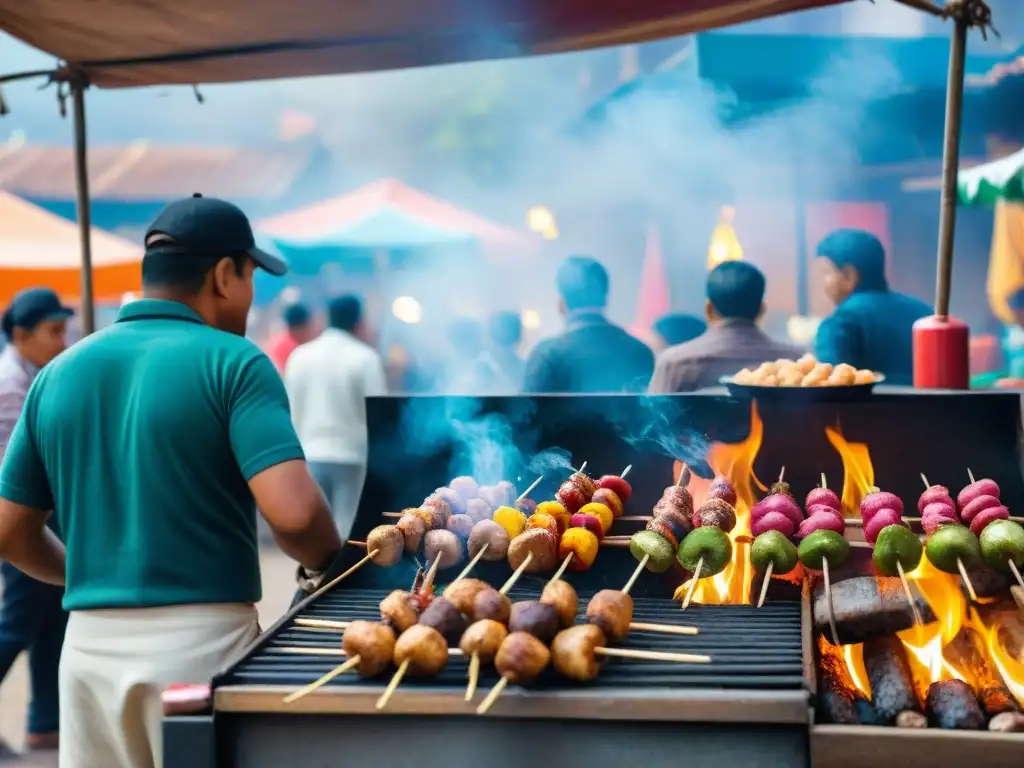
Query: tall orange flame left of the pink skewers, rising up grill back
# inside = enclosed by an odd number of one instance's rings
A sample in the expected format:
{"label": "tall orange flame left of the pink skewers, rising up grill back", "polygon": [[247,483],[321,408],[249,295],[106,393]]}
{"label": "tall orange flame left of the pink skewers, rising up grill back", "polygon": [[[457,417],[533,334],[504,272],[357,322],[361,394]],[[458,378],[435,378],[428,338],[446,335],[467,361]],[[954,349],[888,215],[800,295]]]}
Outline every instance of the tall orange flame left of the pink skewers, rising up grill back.
{"label": "tall orange flame left of the pink skewers, rising up grill back", "polygon": [[[751,403],[751,431],[741,442],[715,442],[708,451],[708,464],[716,475],[729,478],[736,489],[736,525],[729,532],[732,559],[725,570],[700,579],[693,590],[692,602],[706,605],[749,605],[754,566],[751,563],[751,508],[754,498],[754,460],[761,450],[764,423],[756,403]],[[687,486],[697,508],[708,496],[710,480],[694,477]],[[685,587],[686,585],[684,585]]]}

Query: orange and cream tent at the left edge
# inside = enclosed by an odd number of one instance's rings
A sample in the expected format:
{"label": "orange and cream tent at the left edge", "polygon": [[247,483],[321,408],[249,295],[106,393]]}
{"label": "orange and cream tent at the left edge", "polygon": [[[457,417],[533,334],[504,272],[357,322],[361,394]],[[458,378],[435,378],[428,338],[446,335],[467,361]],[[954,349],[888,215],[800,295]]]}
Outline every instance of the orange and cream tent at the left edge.
{"label": "orange and cream tent at the left edge", "polygon": [[[0,190],[0,306],[26,288],[47,286],[69,302],[82,290],[78,225]],[[142,249],[92,229],[95,300],[120,301],[142,284]]]}

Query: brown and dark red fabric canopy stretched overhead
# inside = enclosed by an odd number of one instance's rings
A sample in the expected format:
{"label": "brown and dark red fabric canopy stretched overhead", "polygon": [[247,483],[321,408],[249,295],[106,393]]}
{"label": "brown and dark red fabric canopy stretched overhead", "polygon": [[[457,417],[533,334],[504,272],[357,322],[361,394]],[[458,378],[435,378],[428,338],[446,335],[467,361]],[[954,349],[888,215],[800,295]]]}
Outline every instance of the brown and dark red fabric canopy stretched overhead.
{"label": "brown and dark red fabric canopy stretched overhead", "polygon": [[511,58],[637,43],[846,0],[0,0],[0,29],[102,87]]}

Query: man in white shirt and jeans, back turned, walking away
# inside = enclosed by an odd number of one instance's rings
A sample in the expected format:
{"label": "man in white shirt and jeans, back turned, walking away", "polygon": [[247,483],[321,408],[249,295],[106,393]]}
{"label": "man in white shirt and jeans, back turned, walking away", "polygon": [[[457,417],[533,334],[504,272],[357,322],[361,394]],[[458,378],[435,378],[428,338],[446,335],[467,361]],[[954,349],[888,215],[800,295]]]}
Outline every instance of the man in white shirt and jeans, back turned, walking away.
{"label": "man in white shirt and jeans, back turned, walking away", "polygon": [[386,394],[387,383],[380,355],[357,338],[359,299],[332,299],[327,313],[324,332],[288,358],[285,388],[309,469],[347,539],[367,474],[366,398]]}

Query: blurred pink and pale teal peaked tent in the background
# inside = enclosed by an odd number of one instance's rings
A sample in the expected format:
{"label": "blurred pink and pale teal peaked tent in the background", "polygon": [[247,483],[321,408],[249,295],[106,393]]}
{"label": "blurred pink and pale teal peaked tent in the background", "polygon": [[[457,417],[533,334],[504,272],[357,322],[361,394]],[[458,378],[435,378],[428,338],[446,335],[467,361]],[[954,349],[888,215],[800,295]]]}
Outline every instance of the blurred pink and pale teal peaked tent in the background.
{"label": "blurred pink and pale teal peaked tent in the background", "polygon": [[513,229],[390,178],[273,216],[256,228],[283,248],[386,250],[524,240]]}

